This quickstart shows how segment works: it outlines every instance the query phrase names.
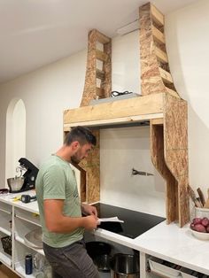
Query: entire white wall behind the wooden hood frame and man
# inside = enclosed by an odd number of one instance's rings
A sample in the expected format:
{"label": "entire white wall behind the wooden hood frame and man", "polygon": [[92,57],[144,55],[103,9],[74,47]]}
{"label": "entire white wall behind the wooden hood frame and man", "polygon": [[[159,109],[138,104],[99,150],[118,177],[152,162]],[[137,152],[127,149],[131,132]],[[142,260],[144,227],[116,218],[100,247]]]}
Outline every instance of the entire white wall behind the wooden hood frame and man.
{"label": "entire white wall behind the wooden hood frame and man", "polygon": [[[201,0],[166,16],[166,46],[174,83],[189,104],[190,183],[201,186],[204,191],[209,187],[208,8],[208,1]],[[113,39],[112,89],[139,92],[138,41],[137,31]],[[39,166],[62,143],[63,110],[80,104],[85,66],[86,50],[83,50],[0,86],[0,182],[3,186],[5,115],[12,98],[21,98],[26,105],[27,158]],[[164,181],[151,166],[149,144],[147,127],[102,131],[101,196],[105,202],[165,214]],[[131,177],[132,166],[155,175]]]}

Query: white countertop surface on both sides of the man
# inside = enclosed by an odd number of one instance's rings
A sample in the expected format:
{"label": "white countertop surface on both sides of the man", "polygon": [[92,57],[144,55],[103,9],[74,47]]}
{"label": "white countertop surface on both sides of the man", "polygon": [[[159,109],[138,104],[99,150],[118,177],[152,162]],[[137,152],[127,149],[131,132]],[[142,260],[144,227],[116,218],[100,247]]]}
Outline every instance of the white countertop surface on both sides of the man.
{"label": "white countertop surface on both sides of the man", "polygon": [[[24,194],[34,196],[35,191],[26,191]],[[28,204],[13,202],[12,197],[16,196],[19,194],[3,194],[0,201],[38,213],[37,201]],[[209,241],[201,241],[192,236],[189,226],[179,228],[176,223],[166,225],[166,221],[163,221],[135,239],[101,228],[97,228],[95,235],[209,275]]]}

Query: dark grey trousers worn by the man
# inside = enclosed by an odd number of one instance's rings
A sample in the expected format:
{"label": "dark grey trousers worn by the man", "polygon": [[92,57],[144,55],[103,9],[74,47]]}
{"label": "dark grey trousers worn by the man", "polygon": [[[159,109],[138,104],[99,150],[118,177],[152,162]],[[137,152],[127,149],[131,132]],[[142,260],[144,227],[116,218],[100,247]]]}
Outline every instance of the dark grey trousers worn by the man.
{"label": "dark grey trousers worn by the man", "polygon": [[99,278],[97,267],[87,254],[83,240],[61,248],[43,243],[43,251],[53,271],[53,278]]}

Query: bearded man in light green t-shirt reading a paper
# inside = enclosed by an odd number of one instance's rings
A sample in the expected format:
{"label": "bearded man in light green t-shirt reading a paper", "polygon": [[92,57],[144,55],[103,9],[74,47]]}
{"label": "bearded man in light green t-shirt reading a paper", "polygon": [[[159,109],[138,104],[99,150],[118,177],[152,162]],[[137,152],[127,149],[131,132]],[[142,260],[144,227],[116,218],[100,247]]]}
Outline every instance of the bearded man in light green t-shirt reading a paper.
{"label": "bearded man in light green t-shirt reading a paper", "polygon": [[[83,243],[84,229],[97,228],[97,209],[81,205],[70,162],[78,164],[96,145],[86,127],[74,127],[64,145],[40,168],[35,182],[43,251],[53,278],[98,278],[96,266]],[[81,216],[81,212],[87,215]]]}

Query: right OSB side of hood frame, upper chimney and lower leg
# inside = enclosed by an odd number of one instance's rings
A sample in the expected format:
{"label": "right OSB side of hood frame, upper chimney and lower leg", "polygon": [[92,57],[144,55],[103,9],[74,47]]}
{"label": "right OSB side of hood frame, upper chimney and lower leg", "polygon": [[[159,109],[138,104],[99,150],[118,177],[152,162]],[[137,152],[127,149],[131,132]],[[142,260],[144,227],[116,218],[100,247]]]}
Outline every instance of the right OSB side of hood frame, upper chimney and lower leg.
{"label": "right OSB side of hood frame, upper chimney and lower leg", "polygon": [[151,120],[151,159],[166,180],[166,221],[190,220],[187,103],[169,71],[164,15],[152,4],[139,8],[142,94],[165,93],[164,117]]}

